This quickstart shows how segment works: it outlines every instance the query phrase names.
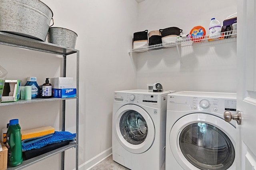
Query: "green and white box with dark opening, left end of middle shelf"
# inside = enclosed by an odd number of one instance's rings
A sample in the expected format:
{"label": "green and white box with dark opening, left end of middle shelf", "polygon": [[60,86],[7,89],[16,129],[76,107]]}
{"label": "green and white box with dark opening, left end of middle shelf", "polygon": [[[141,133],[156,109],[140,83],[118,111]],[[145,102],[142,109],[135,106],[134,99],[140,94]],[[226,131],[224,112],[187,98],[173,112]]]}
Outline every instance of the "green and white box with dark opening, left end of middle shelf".
{"label": "green and white box with dark opening, left end of middle shelf", "polygon": [[4,80],[0,102],[16,102],[20,99],[21,80]]}

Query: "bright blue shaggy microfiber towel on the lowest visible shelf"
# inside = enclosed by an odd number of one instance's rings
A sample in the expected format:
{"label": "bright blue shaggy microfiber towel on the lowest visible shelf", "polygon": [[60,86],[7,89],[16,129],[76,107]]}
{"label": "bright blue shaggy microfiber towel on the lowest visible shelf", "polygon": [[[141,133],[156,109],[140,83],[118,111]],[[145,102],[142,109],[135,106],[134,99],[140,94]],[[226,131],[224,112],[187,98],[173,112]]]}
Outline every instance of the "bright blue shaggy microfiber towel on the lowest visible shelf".
{"label": "bright blue shaggy microfiber towel on the lowest visible shelf", "polygon": [[76,138],[76,134],[72,134],[67,131],[55,131],[54,134],[52,134],[51,137],[45,138],[43,140],[40,140],[38,142],[34,142],[33,144],[29,144],[26,146],[22,146],[22,151],[31,150],[31,149],[39,149],[49,144],[56,144],[62,141],[66,140],[74,140]]}

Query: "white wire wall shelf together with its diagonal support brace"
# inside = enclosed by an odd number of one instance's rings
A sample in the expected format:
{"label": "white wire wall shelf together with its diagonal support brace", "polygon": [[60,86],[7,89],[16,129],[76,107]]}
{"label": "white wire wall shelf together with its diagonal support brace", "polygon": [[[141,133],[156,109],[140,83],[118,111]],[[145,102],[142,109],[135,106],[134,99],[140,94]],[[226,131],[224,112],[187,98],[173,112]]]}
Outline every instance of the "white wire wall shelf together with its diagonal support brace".
{"label": "white wire wall shelf together with its diagonal support brace", "polygon": [[180,65],[182,65],[182,60],[180,56],[180,47],[185,47],[185,46],[192,46],[195,44],[203,44],[203,45],[209,45],[209,44],[221,44],[221,43],[228,43],[228,42],[234,42],[236,41],[236,34],[237,30],[233,31],[227,31],[227,32],[221,32],[219,34],[214,34],[214,35],[205,35],[200,37],[200,39],[196,38],[187,38],[187,39],[182,39],[182,40],[177,40],[173,42],[167,42],[163,44],[156,44],[152,46],[145,46],[145,47],[140,47],[140,48],[133,48],[129,49],[129,55],[132,57],[132,53],[141,53],[141,52],[149,52],[149,51],[155,51],[155,50],[163,50],[166,48],[173,48],[176,47],[178,51],[178,56],[180,58]]}

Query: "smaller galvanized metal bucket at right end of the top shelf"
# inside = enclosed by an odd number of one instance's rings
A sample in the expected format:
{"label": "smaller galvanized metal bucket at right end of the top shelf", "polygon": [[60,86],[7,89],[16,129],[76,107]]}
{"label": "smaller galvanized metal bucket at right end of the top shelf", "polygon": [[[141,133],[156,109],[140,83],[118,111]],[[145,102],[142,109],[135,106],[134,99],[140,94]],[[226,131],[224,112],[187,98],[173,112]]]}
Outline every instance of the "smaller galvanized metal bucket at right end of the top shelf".
{"label": "smaller galvanized metal bucket at right end of the top shelf", "polygon": [[75,48],[76,38],[74,31],[61,27],[50,27],[47,34],[48,42],[70,48]]}

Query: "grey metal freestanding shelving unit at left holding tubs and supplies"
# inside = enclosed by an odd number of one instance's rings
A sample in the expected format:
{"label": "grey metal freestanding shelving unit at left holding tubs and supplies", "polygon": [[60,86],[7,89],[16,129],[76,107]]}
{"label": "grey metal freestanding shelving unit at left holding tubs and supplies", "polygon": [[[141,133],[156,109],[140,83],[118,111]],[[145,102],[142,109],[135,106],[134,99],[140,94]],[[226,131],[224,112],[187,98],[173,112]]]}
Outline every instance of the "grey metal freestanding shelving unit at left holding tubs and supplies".
{"label": "grey metal freestanding shelving unit at left holding tubs and supplies", "polygon": [[5,32],[0,32],[0,44],[62,55],[62,58],[63,58],[62,77],[66,77],[66,57],[70,54],[76,53],[76,97],[75,98],[47,98],[47,99],[37,98],[32,100],[18,100],[17,102],[10,102],[10,103],[0,103],[0,106],[10,106],[15,104],[28,104],[28,103],[35,103],[35,102],[51,102],[51,101],[61,100],[62,101],[61,126],[62,126],[62,131],[65,131],[66,100],[71,100],[71,99],[76,100],[76,141],[70,142],[70,144],[68,144],[67,146],[63,146],[51,152],[47,152],[46,154],[42,154],[35,158],[25,160],[19,166],[8,167],[7,170],[21,170],[32,164],[35,164],[36,162],[40,162],[41,160],[49,158],[58,153],[61,153],[61,170],[64,170],[64,151],[70,148],[76,148],[76,170],[78,170],[79,50],[56,45],[56,44],[51,44],[48,42],[42,42],[39,40],[34,40],[34,39],[22,37],[22,36],[17,36],[17,35],[5,33]]}

